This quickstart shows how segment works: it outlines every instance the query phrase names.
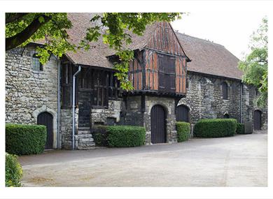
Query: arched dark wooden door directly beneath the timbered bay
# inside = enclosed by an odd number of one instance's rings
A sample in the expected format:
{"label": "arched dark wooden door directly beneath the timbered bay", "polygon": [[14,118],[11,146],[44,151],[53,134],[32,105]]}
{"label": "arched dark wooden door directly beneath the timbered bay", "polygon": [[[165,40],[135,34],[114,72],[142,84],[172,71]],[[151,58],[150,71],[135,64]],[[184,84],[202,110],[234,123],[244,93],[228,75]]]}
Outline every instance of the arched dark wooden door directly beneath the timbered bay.
{"label": "arched dark wooden door directly beneath the timbered bay", "polygon": [[151,110],[151,141],[155,143],[166,142],[166,114],[161,105],[154,105]]}

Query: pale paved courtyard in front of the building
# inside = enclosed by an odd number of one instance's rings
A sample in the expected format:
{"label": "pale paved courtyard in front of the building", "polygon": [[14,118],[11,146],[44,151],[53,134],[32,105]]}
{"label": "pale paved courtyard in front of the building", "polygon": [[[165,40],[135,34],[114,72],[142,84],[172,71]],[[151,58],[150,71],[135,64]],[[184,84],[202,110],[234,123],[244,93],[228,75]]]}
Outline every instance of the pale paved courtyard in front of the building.
{"label": "pale paved courtyard in front of the building", "polygon": [[267,186],[267,133],[19,160],[23,186]]}

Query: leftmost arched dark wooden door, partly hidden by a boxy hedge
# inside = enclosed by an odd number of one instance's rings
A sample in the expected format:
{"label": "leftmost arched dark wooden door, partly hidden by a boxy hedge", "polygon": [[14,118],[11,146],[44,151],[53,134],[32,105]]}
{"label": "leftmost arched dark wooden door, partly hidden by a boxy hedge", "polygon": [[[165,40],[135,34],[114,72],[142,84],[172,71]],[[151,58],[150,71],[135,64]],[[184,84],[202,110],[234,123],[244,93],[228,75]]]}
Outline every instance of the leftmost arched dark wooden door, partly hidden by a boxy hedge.
{"label": "leftmost arched dark wooden door, partly hidden by a boxy hedge", "polygon": [[37,124],[46,126],[47,136],[45,149],[53,148],[53,117],[49,112],[41,112],[37,118]]}

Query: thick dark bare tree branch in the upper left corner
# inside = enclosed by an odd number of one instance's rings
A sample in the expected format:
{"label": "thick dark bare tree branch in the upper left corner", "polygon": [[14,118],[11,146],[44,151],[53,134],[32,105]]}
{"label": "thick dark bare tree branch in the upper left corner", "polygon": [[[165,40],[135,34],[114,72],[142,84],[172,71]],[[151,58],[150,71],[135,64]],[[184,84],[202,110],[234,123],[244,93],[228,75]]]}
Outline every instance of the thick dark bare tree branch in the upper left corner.
{"label": "thick dark bare tree branch in the upper left corner", "polygon": [[18,47],[26,40],[28,40],[43,24],[46,24],[51,20],[51,17],[41,15],[44,18],[43,22],[39,22],[38,17],[36,17],[28,27],[26,27],[23,31],[16,34],[15,36],[11,36],[6,38],[6,50],[13,49],[14,47]]}

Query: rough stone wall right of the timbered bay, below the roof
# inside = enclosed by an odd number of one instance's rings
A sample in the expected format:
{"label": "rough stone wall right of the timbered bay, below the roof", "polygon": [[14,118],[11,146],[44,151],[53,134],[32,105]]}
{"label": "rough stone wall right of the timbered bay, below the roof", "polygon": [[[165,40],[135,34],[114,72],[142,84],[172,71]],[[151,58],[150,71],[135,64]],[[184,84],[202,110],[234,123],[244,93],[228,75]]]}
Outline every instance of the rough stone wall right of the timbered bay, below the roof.
{"label": "rough stone wall right of the timbered bay, below the roof", "polygon": [[[222,83],[228,84],[228,99],[223,99]],[[195,124],[199,119],[230,118],[240,121],[240,89],[239,80],[206,77],[188,72],[188,89],[186,98],[178,105],[186,105],[190,109],[190,123]],[[244,85],[242,88],[241,119],[253,122],[254,110],[262,111],[262,129],[267,128],[267,108],[258,108],[255,103],[255,87]]]}

